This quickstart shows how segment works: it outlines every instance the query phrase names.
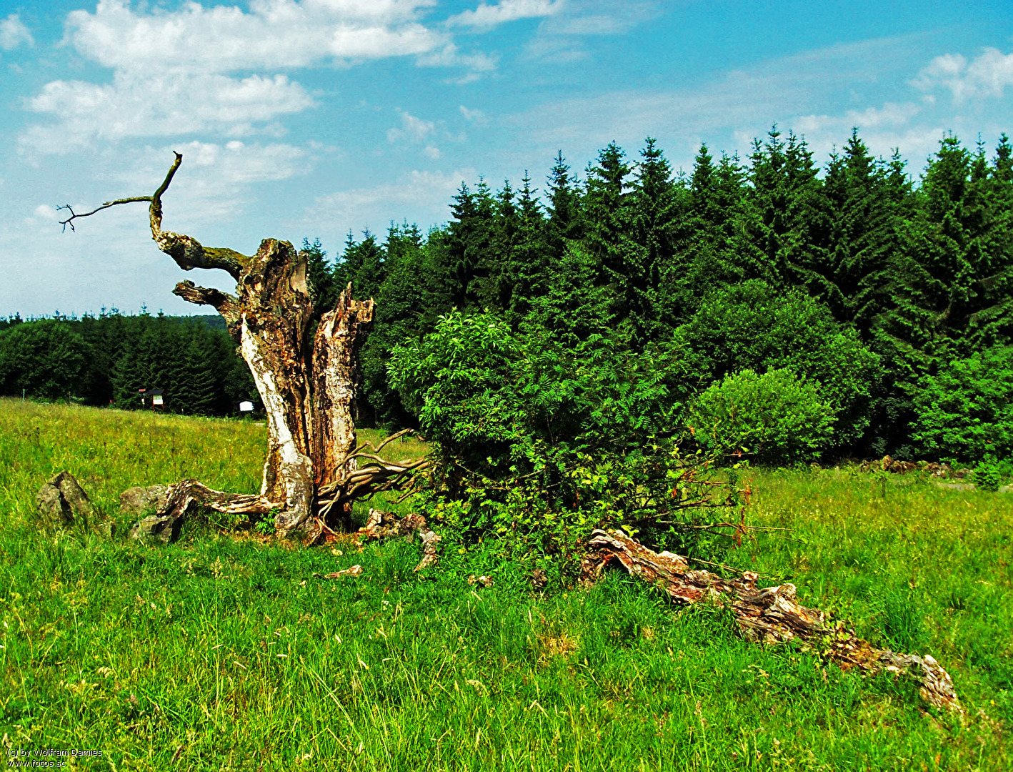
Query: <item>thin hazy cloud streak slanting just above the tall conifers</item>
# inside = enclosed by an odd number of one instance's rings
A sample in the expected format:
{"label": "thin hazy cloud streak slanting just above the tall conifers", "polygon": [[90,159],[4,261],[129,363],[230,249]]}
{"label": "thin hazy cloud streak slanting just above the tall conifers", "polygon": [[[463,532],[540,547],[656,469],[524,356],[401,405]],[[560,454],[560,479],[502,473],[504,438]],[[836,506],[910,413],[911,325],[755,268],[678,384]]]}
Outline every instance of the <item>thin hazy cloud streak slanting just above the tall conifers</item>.
{"label": "thin hazy cloud streak slanting just above the tall conifers", "polygon": [[[886,127],[890,136],[901,129],[907,131],[916,114],[909,101],[830,115],[813,115],[813,107],[837,102],[832,95],[849,94],[867,84],[871,88],[884,69],[895,68],[900,58],[916,55],[918,44],[884,38],[833,46],[727,71],[689,87],[626,89],[552,102],[515,121],[531,132],[546,153],[576,143],[581,150],[601,148],[613,139],[620,144],[640,143],[646,136],[664,132],[670,152],[676,142],[689,152],[686,152],[684,158],[689,156],[689,160],[699,138],[719,133],[734,137],[735,143],[721,147],[711,140],[708,144],[713,150],[748,152],[750,140],[774,122],[784,131],[804,133],[814,150],[829,150],[846,140],[855,125]],[[821,127],[825,135],[810,136]],[[866,138],[864,132],[862,136]],[[881,152],[878,146],[876,152]]]}

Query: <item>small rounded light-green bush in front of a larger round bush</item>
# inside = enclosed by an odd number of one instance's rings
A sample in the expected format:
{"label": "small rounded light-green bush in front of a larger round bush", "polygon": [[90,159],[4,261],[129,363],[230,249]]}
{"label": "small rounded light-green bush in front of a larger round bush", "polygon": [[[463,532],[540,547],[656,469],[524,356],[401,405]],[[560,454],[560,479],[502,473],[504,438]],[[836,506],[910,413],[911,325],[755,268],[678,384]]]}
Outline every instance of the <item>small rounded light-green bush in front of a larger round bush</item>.
{"label": "small rounded light-green bush in front of a larger round bush", "polygon": [[719,453],[785,465],[820,455],[834,431],[834,410],[816,384],[789,370],[744,370],[697,397],[690,426],[698,441]]}

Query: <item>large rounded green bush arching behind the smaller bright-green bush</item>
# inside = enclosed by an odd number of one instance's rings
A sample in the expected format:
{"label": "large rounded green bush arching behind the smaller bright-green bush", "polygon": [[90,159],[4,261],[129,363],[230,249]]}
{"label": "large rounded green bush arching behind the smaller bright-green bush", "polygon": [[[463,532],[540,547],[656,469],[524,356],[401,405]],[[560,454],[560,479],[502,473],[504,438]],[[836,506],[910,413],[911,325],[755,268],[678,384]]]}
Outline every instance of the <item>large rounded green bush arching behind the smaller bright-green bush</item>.
{"label": "large rounded green bush arching behind the smaller bright-green bush", "polygon": [[676,330],[672,345],[704,384],[744,370],[804,376],[837,417],[823,447],[850,448],[868,429],[882,377],[879,358],[797,290],[775,291],[754,280],[716,292]]}

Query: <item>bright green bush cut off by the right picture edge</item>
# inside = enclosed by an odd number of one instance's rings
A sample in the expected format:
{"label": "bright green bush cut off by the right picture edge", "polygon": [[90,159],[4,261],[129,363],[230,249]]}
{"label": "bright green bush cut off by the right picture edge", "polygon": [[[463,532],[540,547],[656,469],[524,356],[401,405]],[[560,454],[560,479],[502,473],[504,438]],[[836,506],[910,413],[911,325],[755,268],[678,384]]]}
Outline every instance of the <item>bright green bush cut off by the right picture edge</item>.
{"label": "bright green bush cut off by the right picture edge", "polygon": [[952,360],[914,392],[915,439],[937,456],[1013,458],[1013,346]]}

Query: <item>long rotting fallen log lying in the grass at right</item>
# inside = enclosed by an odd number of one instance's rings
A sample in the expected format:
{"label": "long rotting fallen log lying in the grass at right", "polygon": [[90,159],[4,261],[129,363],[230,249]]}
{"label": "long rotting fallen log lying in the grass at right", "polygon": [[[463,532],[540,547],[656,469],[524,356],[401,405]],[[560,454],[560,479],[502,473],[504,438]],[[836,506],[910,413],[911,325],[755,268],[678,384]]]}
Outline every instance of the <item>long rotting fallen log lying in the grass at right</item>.
{"label": "long rotting fallen log lying in the grass at right", "polygon": [[798,604],[795,586],[757,588],[757,574],[724,580],[705,570],[693,570],[686,558],[654,552],[621,531],[596,530],[588,542],[582,576],[592,582],[605,567],[618,563],[630,575],[658,587],[681,604],[711,600],[731,609],[743,634],[755,641],[797,640],[817,649],[844,669],[905,674],[921,684],[922,698],[939,708],[960,710],[949,674],[932,657],[875,648],[855,636],[844,624],[830,625],[819,609]]}

